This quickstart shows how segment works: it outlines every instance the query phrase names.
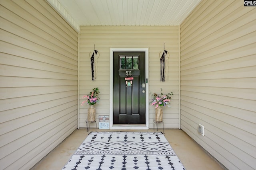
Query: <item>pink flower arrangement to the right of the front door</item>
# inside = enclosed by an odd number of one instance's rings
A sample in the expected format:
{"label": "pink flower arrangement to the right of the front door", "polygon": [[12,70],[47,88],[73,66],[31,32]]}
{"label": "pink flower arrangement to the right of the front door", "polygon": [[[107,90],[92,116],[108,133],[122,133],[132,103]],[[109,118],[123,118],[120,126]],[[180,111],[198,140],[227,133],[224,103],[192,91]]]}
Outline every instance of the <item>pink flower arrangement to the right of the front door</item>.
{"label": "pink flower arrangement to the right of the front door", "polygon": [[155,108],[158,108],[159,106],[168,106],[168,107],[170,107],[170,98],[171,98],[170,95],[173,95],[172,92],[164,95],[162,93],[162,88],[161,88],[161,94],[160,95],[156,94],[156,93],[152,94],[151,92],[150,92],[150,94],[153,97],[153,98],[151,98],[152,101],[150,103],[151,103],[152,106],[155,106]]}

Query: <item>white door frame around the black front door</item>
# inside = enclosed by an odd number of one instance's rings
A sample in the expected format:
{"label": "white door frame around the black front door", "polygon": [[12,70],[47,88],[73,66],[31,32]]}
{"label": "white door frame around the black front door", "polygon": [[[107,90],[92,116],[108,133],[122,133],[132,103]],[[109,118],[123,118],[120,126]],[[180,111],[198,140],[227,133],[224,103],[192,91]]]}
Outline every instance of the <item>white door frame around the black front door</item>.
{"label": "white door frame around the black front door", "polygon": [[148,49],[147,48],[110,48],[110,129],[149,129],[149,113],[148,113],[148,81],[146,82],[146,124],[141,125],[126,125],[126,124],[118,124],[113,125],[113,53],[114,52],[132,52],[132,51],[142,51],[145,52],[145,79],[148,79]]}

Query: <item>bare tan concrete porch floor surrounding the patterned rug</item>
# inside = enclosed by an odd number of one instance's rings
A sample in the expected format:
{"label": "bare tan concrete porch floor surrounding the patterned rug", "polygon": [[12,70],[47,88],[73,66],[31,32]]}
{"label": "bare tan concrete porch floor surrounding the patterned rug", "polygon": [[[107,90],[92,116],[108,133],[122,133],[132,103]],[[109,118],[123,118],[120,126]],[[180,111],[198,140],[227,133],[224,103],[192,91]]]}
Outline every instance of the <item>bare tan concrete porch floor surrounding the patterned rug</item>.
{"label": "bare tan concrete porch floor surrounding the patterned rug", "polygon": [[[91,128],[90,131],[95,131]],[[148,130],[110,130],[97,129],[97,131],[138,131],[153,132]],[[156,129],[155,129],[156,131]],[[162,129],[158,129],[158,132]],[[223,170],[211,156],[209,156],[193,139],[184,131],[179,129],[165,129],[165,137],[176,152],[178,158],[186,170]],[[46,155],[31,170],[62,170],[65,164],[70,160],[76,149],[88,136],[86,128],[80,128],[69,135],[60,145]]]}

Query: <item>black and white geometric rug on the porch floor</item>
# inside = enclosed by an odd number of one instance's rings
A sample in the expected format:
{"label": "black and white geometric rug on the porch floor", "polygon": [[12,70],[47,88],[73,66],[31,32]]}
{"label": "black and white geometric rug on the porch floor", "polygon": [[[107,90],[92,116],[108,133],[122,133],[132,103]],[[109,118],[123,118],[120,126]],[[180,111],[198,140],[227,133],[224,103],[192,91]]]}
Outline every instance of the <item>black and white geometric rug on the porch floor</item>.
{"label": "black and white geometric rug on the porch floor", "polygon": [[185,170],[162,133],[92,132],[63,170]]}

